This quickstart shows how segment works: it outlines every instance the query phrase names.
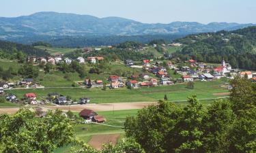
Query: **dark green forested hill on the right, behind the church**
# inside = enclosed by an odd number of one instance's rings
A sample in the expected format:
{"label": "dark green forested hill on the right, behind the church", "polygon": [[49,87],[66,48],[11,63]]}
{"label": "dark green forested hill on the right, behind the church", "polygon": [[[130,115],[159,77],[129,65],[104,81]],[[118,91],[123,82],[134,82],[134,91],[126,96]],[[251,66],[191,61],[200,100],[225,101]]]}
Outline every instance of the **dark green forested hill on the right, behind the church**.
{"label": "dark green forested hill on the right, behind the church", "polygon": [[233,67],[256,70],[256,27],[188,35],[175,41],[184,44],[175,53],[184,60],[220,63],[224,58]]}

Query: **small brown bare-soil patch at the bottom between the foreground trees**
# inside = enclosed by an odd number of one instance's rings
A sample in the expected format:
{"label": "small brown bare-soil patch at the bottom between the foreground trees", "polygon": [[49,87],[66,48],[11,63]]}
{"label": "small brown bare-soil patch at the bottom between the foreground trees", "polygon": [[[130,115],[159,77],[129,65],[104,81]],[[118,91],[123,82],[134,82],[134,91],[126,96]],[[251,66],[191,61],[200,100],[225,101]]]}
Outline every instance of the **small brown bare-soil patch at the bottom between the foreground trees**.
{"label": "small brown bare-soil patch at the bottom between the foreground trees", "polygon": [[117,139],[120,137],[120,134],[109,134],[109,135],[93,135],[89,141],[89,145],[100,150],[102,145],[105,143],[112,142],[113,144],[117,143]]}

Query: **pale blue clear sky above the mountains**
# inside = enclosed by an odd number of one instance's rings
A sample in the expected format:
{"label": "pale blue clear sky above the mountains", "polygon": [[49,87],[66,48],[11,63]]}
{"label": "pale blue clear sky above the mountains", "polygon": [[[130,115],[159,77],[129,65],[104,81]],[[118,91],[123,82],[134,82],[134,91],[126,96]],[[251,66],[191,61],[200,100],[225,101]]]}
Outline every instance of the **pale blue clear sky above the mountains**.
{"label": "pale blue clear sky above the mountains", "polygon": [[0,0],[0,16],[35,12],[118,16],[144,23],[256,23],[255,0]]}

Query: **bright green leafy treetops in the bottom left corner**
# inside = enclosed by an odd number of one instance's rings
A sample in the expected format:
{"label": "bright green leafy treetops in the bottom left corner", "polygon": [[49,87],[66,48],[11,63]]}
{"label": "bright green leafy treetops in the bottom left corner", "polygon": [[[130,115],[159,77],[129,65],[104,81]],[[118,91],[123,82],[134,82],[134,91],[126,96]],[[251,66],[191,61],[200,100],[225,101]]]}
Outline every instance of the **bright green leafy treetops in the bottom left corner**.
{"label": "bright green leafy treetops in the bottom left corner", "polygon": [[50,153],[74,141],[72,124],[60,110],[38,120],[29,109],[2,114],[0,127],[0,152]]}

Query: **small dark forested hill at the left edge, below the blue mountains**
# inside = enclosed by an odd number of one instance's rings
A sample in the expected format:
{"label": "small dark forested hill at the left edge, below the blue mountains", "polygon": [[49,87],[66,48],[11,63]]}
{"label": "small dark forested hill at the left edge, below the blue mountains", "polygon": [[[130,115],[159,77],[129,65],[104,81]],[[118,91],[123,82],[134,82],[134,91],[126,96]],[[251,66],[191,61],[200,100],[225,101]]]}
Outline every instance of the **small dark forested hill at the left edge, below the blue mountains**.
{"label": "small dark forested hill at the left edge, below the blue mountains", "polygon": [[26,55],[48,56],[48,52],[34,48],[33,46],[17,44],[10,41],[0,40],[0,58],[8,58],[14,56],[18,52],[23,52]]}

